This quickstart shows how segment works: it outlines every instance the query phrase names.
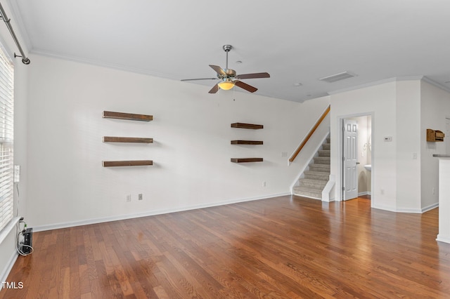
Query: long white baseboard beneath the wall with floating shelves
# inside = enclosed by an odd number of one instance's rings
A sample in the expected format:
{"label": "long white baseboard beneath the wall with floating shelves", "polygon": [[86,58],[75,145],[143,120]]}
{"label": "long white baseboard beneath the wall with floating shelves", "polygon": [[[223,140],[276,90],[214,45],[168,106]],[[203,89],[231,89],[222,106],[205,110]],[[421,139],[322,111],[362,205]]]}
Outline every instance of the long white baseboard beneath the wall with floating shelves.
{"label": "long white baseboard beneath the wall with floating shelves", "polygon": [[213,204],[200,204],[200,205],[196,205],[196,206],[186,206],[184,208],[169,208],[169,209],[165,209],[165,210],[148,211],[148,212],[144,212],[144,213],[118,215],[118,216],[113,216],[113,217],[86,219],[86,220],[72,221],[72,222],[60,222],[60,223],[54,223],[51,225],[38,225],[38,226],[33,227],[33,232],[42,232],[45,230],[58,230],[60,228],[76,227],[76,226],[80,226],[80,225],[91,225],[91,224],[102,223],[102,222],[111,222],[111,221],[141,218],[141,217],[147,217],[147,216],[153,216],[153,215],[162,215],[162,214],[175,213],[175,212],[181,212],[181,211],[195,210],[198,208],[211,208],[213,206],[224,206],[227,204],[237,204],[237,203],[245,202],[245,201],[254,201],[254,200],[260,200],[260,199],[270,199],[270,198],[274,198],[274,197],[283,197],[286,195],[291,195],[291,194],[290,194],[290,192],[285,192],[285,193],[280,193],[280,194],[265,195],[262,197],[248,197],[246,199],[232,199],[229,201],[220,201],[220,202],[213,203]]}

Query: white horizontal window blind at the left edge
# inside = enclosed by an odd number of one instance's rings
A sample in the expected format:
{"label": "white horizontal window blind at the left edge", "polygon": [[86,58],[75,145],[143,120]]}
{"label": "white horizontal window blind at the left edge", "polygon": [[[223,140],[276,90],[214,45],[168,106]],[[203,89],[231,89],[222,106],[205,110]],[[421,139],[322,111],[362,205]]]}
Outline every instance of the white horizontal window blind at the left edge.
{"label": "white horizontal window blind at the left edge", "polygon": [[0,48],[0,231],[13,218],[14,66]]}

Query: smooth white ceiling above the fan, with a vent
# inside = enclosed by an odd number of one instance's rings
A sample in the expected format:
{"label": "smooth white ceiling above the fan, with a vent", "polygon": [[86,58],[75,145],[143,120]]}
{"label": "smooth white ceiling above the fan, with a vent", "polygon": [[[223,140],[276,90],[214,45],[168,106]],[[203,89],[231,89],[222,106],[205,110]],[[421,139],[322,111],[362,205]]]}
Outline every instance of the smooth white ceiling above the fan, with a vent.
{"label": "smooth white ceiling above the fan, with a vent", "polygon": [[[243,80],[259,95],[301,102],[410,76],[450,91],[447,0],[18,0],[11,6],[8,16],[31,53],[180,80],[214,77],[208,65],[224,68],[222,46],[231,44],[229,68],[271,74]],[[318,80],[345,71],[357,76]],[[205,84],[205,96],[212,96],[215,83],[183,84]]]}

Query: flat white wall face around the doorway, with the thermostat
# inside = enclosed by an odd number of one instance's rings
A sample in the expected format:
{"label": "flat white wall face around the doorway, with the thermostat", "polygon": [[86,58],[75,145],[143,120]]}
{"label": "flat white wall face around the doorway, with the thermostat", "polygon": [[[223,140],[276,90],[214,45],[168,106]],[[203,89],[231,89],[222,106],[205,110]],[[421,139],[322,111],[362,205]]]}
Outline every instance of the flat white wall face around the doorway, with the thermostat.
{"label": "flat white wall face around the doorway, with the thermostat", "polygon": [[[396,107],[394,81],[330,96],[331,103],[331,174],[335,175],[335,199],[342,200],[339,147],[340,119],[371,115],[372,119],[372,206],[394,211],[396,208]],[[392,136],[392,142],[384,142]]]}

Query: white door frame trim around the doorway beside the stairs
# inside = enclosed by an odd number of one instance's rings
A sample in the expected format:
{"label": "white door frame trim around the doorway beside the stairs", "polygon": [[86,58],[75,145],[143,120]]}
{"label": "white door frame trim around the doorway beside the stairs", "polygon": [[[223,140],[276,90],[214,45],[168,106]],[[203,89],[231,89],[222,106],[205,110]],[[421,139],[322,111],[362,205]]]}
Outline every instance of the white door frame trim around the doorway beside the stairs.
{"label": "white door frame trim around the doorway beside the stairs", "polygon": [[371,117],[371,165],[372,165],[372,171],[371,171],[371,207],[375,206],[375,202],[376,202],[376,196],[375,196],[375,173],[376,173],[376,168],[375,168],[375,112],[361,112],[361,113],[356,113],[356,114],[345,114],[345,115],[340,115],[337,117],[337,121],[338,121],[338,132],[336,132],[336,136],[337,136],[337,142],[338,142],[338,147],[337,150],[338,152],[336,153],[338,158],[338,165],[339,165],[339,173],[340,173],[340,180],[338,180],[336,182],[336,187],[338,187],[338,192],[336,194],[339,194],[338,196],[338,201],[345,201],[345,194],[344,194],[344,190],[342,190],[342,187],[344,185],[344,175],[343,175],[343,171],[344,171],[344,161],[342,161],[342,157],[343,157],[343,147],[344,147],[344,131],[343,126],[344,126],[344,119],[352,119],[354,117]]}

